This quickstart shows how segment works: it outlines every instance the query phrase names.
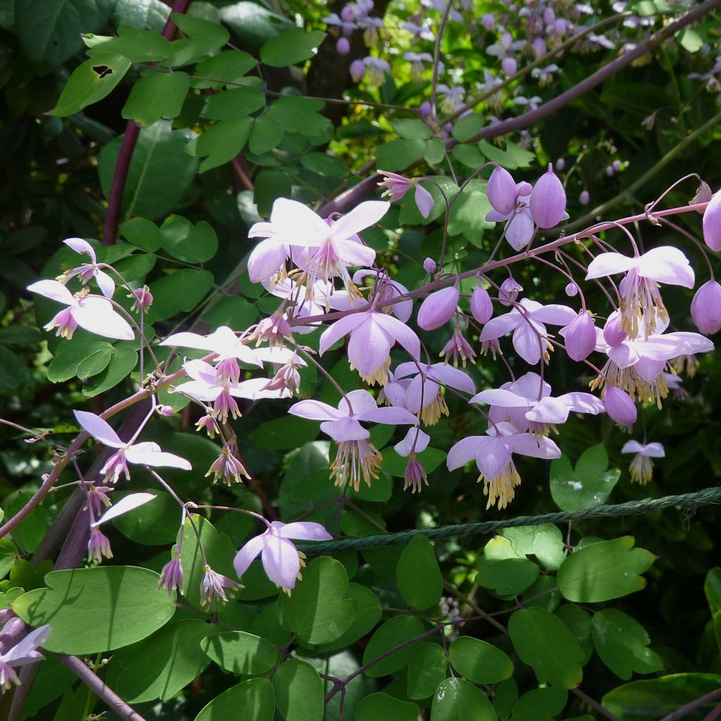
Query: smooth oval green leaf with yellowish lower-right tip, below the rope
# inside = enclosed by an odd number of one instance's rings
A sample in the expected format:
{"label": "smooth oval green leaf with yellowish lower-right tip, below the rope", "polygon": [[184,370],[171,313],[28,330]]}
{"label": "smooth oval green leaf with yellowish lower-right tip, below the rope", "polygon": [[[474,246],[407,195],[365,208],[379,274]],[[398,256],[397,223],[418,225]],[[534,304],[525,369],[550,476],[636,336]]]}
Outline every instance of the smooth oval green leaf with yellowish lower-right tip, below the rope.
{"label": "smooth oval green leaf with yellowish lower-right tip, below the rope", "polygon": [[539,608],[514,611],[508,634],[523,663],[533,668],[540,684],[572,689],[583,678],[583,649],[566,624]]}

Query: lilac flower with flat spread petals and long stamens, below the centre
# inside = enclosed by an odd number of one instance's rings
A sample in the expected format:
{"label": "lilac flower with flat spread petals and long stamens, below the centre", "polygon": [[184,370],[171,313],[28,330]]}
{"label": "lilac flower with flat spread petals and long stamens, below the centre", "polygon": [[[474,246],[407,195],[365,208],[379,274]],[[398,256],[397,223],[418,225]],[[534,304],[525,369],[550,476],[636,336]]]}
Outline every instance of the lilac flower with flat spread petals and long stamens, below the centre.
{"label": "lilac flower with flat spread petals and long stamens, below the centre", "polygon": [[[346,400],[347,399],[347,400]],[[350,407],[348,403],[350,402]],[[361,421],[387,423],[389,425],[417,423],[415,415],[399,407],[379,408],[376,399],[368,391],[351,391],[340,399],[337,409],[316,400],[298,401],[288,410],[309,420],[320,420],[320,428],[338,444],[338,453],[330,466],[330,477],[335,485],[350,481],[355,490],[361,487],[361,478],[371,485],[371,478],[378,477],[382,456],[368,438],[371,434]]]}

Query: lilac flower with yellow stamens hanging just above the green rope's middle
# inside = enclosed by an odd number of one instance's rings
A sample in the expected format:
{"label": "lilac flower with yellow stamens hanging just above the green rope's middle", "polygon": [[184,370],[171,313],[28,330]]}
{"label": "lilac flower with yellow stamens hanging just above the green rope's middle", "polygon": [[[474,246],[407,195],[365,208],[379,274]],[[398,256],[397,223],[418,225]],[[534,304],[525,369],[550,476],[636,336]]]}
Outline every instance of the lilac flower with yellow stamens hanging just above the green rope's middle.
{"label": "lilac flower with yellow stamens hanging just above the green rope's middle", "polygon": [[539,438],[530,433],[518,433],[510,423],[497,423],[487,430],[488,435],[470,435],[456,443],[448,451],[446,464],[449,471],[475,460],[484,482],[483,494],[488,496],[486,508],[495,503],[505,508],[520,485],[513,454],[533,458],[554,459],[561,457],[560,448],[549,438]]}

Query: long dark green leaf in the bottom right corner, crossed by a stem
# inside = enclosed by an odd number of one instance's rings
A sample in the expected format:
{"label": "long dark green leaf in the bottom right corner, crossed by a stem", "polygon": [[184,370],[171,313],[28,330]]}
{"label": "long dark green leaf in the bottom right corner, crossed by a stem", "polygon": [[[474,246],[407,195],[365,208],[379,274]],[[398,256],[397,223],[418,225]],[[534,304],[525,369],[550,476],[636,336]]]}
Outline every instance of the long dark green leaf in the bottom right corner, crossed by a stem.
{"label": "long dark green leaf in the bottom right corner, crossed by a stem", "polygon": [[[660,721],[682,706],[721,688],[721,676],[714,673],[674,673],[646,681],[631,681],[603,696],[605,709],[622,721]],[[696,709],[703,718],[718,704],[709,699]]]}

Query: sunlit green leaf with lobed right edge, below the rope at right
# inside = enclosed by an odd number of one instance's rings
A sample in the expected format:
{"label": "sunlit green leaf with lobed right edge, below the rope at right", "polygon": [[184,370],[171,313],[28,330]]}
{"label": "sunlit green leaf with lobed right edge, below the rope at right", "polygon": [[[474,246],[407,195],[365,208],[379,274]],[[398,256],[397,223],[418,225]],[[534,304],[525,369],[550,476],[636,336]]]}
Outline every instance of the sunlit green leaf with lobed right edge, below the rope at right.
{"label": "sunlit green leaf with lobed right edge, below the rope at right", "polygon": [[641,590],[640,573],[653,563],[653,554],[633,547],[632,536],[600,541],[568,556],[558,570],[561,593],[576,603],[598,603]]}

